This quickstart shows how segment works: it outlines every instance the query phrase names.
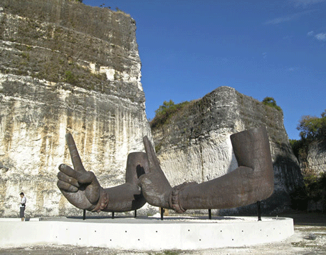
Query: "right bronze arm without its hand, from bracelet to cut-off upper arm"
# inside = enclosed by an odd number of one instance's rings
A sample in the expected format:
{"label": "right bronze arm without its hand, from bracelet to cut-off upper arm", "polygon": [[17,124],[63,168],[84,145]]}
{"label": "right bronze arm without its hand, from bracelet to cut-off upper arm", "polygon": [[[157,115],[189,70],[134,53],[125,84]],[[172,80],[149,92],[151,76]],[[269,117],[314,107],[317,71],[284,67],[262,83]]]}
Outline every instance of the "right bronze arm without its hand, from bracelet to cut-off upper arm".
{"label": "right bronze arm without its hand, from bracelet to cut-off upper arm", "polygon": [[179,194],[183,210],[245,206],[272,195],[274,172],[265,128],[233,134],[231,142],[239,167],[212,181],[185,186]]}

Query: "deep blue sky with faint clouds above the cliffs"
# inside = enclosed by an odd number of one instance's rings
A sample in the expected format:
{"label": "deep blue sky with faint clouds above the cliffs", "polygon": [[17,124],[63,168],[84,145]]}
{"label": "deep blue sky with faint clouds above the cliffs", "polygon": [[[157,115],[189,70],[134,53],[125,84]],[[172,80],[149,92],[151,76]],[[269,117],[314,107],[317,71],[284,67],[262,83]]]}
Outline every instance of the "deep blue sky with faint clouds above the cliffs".
{"label": "deep blue sky with faint clouds above the cliffs", "polygon": [[146,114],[227,85],[274,97],[290,139],[326,109],[326,0],[84,0],[137,23]]}

